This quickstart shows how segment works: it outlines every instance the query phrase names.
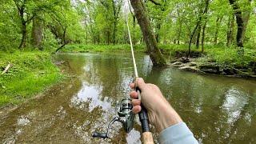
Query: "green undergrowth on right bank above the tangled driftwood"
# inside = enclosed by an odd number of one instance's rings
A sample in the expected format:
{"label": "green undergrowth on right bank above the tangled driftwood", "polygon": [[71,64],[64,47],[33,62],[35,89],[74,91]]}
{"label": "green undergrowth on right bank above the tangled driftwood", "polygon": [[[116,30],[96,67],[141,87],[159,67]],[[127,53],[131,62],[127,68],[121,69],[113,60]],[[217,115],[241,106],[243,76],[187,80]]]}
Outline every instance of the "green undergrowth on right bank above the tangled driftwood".
{"label": "green undergrowth on right bank above the tangled driftwood", "polygon": [[[162,50],[167,50],[170,55],[175,56],[175,52],[187,52],[187,45],[160,45]],[[195,46],[191,47],[191,51],[198,54],[201,49]],[[204,53],[201,55],[203,62],[216,62],[222,66],[246,67],[256,63],[256,49],[244,47],[239,49],[235,46],[218,46],[206,45]]]}

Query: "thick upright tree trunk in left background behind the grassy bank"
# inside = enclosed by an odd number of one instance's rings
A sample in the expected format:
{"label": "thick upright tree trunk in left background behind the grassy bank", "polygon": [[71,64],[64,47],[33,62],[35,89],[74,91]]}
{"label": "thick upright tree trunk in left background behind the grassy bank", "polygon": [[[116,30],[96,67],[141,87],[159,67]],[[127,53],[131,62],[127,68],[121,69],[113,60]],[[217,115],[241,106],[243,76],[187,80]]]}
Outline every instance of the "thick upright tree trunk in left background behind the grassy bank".
{"label": "thick upright tree trunk in left background behind the grassy bank", "polygon": [[38,18],[38,16],[35,16],[33,18],[33,26],[32,26],[32,32],[31,32],[31,43],[34,47],[37,47],[39,50],[42,49],[42,38],[43,38],[43,22],[41,18]]}

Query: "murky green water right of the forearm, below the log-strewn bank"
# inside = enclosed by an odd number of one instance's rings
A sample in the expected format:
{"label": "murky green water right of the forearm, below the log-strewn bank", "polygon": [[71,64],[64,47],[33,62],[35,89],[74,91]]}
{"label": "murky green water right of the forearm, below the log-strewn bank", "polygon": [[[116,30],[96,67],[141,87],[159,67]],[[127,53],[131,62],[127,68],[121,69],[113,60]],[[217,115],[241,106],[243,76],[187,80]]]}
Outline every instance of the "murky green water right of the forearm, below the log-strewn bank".
{"label": "murky green water right of the forearm, below the log-strewn bank", "polygon": [[146,81],[160,86],[200,142],[256,142],[256,82],[174,69],[152,70]]}

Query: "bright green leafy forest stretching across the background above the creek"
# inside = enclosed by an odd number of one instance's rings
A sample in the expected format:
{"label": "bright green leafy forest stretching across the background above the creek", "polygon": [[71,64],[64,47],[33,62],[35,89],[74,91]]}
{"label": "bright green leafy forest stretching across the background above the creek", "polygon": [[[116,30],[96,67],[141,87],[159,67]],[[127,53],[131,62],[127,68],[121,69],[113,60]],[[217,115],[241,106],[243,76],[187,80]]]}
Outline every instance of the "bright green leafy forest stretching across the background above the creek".
{"label": "bright green leafy forest stretching across the background above the creek", "polygon": [[[254,48],[253,0],[144,0],[156,41]],[[129,43],[125,14],[134,44],[143,37],[126,0],[11,0],[0,10],[0,50],[50,49],[69,43]],[[130,3],[130,2],[129,2]],[[188,46],[187,46],[188,47]]]}

